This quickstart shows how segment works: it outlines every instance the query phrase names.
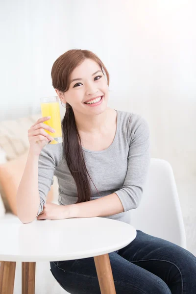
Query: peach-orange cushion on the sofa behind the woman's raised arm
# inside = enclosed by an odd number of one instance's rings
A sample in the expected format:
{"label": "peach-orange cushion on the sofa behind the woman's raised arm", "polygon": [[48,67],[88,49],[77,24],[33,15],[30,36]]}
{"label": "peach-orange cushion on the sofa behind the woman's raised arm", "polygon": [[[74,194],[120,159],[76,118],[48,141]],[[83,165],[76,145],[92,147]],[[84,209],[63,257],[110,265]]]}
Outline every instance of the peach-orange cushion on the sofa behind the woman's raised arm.
{"label": "peach-orange cushion on the sofa behind the woman's raised arm", "polygon": [[[28,150],[16,159],[0,165],[0,193],[6,208],[17,215],[16,194],[25,170]],[[47,196],[47,202],[53,200],[53,188]]]}

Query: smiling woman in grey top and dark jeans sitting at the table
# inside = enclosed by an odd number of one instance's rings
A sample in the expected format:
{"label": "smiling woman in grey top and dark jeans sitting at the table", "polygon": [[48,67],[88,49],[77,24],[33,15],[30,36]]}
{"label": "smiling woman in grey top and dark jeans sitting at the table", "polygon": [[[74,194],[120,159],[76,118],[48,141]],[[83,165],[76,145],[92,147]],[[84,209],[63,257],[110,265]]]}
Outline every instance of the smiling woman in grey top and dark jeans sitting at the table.
{"label": "smiling woman in grey top and dark jeans sitting at the table", "polygon": [[[58,97],[66,103],[63,143],[46,145],[52,140],[44,130],[52,132],[43,123],[48,118],[30,128],[27,165],[34,167],[35,191],[27,219],[22,210],[26,203],[22,179],[21,220],[32,221],[37,214],[38,220],[107,217],[129,222],[130,210],[140,203],[149,167],[146,120],[107,106],[109,73],[91,51],[67,51],[54,62],[51,77]],[[61,205],[45,204],[54,174]],[[196,257],[180,246],[137,230],[130,245],[109,256],[117,294],[196,293]],[[69,293],[100,294],[93,257],[50,262],[50,267]]]}

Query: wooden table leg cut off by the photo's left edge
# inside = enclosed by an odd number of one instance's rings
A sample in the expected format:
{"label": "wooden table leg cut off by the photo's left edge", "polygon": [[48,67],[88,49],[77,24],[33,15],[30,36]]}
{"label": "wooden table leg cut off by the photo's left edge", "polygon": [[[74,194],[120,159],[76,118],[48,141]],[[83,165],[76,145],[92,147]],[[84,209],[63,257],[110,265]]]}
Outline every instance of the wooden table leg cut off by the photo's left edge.
{"label": "wooden table leg cut off by the photo's left edge", "polygon": [[0,294],[13,294],[16,262],[0,261]]}

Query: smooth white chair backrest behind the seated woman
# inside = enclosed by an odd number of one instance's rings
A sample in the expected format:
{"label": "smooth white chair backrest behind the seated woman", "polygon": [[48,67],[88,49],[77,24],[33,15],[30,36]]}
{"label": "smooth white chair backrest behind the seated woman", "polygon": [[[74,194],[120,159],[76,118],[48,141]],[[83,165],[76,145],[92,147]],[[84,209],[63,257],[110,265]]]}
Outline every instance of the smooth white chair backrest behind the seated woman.
{"label": "smooth white chair backrest behind the seated woman", "polygon": [[136,229],[186,248],[175,179],[166,160],[151,158],[141,203],[130,214]]}

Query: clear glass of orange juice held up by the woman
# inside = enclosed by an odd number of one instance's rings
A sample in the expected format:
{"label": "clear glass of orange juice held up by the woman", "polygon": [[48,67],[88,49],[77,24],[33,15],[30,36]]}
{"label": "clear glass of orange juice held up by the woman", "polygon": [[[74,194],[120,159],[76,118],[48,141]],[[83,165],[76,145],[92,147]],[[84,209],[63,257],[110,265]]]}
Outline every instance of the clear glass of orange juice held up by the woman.
{"label": "clear glass of orange juice held up by the woman", "polygon": [[48,130],[45,130],[50,136],[54,138],[53,141],[49,141],[49,144],[62,143],[63,139],[58,96],[40,98],[40,104],[42,117],[50,117],[50,119],[44,123],[55,130],[55,133],[51,133]]}

